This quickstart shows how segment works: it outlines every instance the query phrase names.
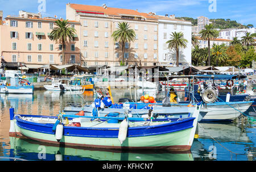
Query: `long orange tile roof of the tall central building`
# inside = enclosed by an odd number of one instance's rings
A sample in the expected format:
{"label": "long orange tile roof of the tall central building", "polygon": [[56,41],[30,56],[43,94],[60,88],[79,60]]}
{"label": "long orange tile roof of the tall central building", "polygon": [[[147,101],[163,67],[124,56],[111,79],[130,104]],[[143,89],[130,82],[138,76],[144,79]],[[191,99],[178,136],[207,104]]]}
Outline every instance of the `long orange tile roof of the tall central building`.
{"label": "long orange tile roof of the tall central building", "polygon": [[101,7],[101,6],[91,6],[91,5],[80,5],[71,3],[70,7],[74,10],[88,11],[88,12],[97,12],[102,15],[112,15],[112,16],[121,16],[122,14],[126,15],[135,15],[139,17],[144,17],[147,19],[156,19],[154,16],[147,13],[138,12],[137,10],[123,9],[123,8],[113,8],[113,7]]}

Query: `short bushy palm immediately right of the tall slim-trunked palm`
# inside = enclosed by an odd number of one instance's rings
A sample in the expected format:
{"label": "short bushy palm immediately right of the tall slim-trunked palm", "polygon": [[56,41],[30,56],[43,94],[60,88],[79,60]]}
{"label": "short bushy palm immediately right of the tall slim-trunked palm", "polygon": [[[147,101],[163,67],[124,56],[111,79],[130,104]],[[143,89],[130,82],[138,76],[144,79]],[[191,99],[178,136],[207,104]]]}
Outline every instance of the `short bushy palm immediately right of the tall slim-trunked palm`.
{"label": "short bushy palm immediately right of the tall slim-trunked palm", "polygon": [[224,63],[226,59],[228,59],[228,55],[226,54],[225,44],[221,44],[221,45],[213,44],[212,57],[216,61],[216,66],[218,66],[218,63]]}

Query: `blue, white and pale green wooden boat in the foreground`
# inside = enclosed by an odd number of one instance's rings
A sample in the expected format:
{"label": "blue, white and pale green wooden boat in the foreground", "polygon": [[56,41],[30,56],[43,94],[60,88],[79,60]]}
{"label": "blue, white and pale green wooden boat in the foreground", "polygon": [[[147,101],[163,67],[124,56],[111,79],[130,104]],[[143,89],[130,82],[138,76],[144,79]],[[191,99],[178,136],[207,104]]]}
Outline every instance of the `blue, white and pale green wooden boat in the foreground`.
{"label": "blue, white and pale green wooden boat in the foreground", "polygon": [[[198,104],[192,117],[170,120],[15,115],[11,108],[10,135],[19,133],[44,143],[76,147],[187,151],[193,143],[200,109],[201,104]],[[92,118],[98,120],[92,121]]]}

